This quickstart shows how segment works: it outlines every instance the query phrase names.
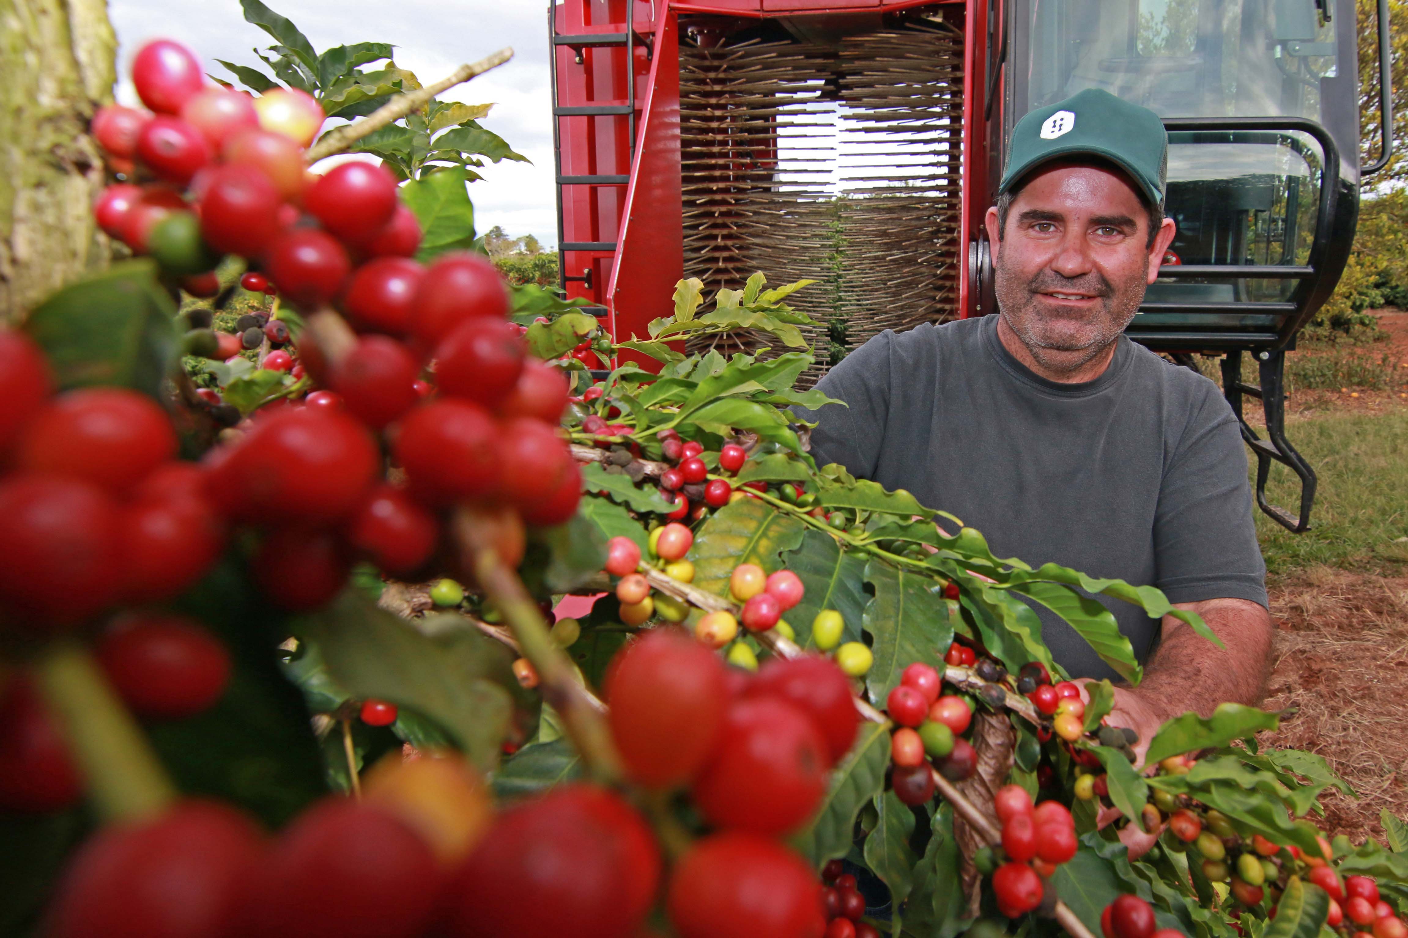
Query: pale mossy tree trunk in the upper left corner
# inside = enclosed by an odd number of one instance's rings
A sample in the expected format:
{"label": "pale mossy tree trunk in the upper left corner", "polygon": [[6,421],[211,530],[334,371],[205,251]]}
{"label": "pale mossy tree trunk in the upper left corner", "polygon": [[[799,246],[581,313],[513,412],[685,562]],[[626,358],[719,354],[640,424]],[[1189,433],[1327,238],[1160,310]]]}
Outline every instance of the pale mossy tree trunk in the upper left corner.
{"label": "pale mossy tree trunk in the upper left corner", "polygon": [[0,323],[108,262],[87,122],[115,49],[106,0],[0,0]]}

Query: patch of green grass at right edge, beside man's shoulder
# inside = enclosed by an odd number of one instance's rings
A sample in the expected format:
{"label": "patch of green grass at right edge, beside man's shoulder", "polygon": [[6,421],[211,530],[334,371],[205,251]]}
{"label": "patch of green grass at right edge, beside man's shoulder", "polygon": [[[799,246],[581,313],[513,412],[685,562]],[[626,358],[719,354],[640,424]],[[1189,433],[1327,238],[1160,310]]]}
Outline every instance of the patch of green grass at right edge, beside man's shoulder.
{"label": "patch of green grass at right edge, beside man's shoulder", "polygon": [[[1324,565],[1404,575],[1408,565],[1408,408],[1378,415],[1328,413],[1287,420],[1286,435],[1315,470],[1319,487],[1311,530],[1304,534],[1293,534],[1256,512],[1267,571],[1283,575]],[[1300,499],[1294,481],[1288,470],[1276,465],[1267,485],[1270,502],[1294,512]]]}

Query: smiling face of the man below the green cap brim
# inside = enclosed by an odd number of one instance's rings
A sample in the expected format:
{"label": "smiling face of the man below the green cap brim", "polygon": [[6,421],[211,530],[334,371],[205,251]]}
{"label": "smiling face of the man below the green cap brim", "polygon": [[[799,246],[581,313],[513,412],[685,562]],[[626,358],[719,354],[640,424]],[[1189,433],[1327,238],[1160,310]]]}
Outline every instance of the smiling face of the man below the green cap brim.
{"label": "smiling face of the man below the green cap brim", "polygon": [[1122,173],[1071,163],[1035,172],[1001,239],[988,211],[998,309],[1041,366],[1074,371],[1129,325],[1173,240],[1166,219],[1150,246],[1148,225]]}

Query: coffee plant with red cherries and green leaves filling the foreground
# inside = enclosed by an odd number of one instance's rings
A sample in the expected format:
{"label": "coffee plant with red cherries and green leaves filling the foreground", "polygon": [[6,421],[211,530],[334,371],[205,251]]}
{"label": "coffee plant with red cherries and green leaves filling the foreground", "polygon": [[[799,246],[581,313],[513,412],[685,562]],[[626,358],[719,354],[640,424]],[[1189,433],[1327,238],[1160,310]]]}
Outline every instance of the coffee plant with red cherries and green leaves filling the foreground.
{"label": "coffee plant with red cherries and green leaves filling the foreground", "polygon": [[1131,685],[1091,596],[1195,615],[815,464],[807,281],[615,343],[191,62],[99,129],[137,257],[0,332],[0,928],[1408,938],[1408,828],[1253,707],[1140,764],[1032,605]]}

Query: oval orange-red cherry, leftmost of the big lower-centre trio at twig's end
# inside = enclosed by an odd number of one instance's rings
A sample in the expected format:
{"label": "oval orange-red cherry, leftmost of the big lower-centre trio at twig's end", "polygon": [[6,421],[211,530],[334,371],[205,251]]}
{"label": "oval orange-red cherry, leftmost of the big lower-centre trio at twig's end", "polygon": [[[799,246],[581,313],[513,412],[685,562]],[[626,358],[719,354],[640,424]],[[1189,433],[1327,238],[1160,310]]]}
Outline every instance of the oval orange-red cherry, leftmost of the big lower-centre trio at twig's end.
{"label": "oval orange-red cherry, leftmost of the big lower-centre trio at twig's end", "polygon": [[627,645],[607,672],[605,692],[621,761],[649,788],[690,780],[724,727],[724,665],[683,633],[656,630]]}

